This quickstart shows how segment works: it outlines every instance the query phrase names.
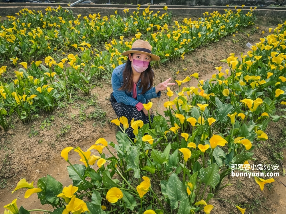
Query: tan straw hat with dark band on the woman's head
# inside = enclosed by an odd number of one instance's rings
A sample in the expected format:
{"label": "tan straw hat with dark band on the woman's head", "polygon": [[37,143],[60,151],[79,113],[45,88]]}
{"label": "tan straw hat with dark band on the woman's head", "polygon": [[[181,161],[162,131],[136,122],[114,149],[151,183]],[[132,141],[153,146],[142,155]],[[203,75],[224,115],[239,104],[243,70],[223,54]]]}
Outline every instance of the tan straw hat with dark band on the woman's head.
{"label": "tan straw hat with dark band on the woman's head", "polygon": [[152,54],[151,50],[152,50],[152,46],[147,41],[138,39],[132,44],[132,48],[130,51],[125,51],[121,55],[128,56],[131,53],[143,53],[143,54],[150,55],[151,61],[152,60],[155,60],[155,61],[160,60],[160,57],[155,55],[155,54]]}

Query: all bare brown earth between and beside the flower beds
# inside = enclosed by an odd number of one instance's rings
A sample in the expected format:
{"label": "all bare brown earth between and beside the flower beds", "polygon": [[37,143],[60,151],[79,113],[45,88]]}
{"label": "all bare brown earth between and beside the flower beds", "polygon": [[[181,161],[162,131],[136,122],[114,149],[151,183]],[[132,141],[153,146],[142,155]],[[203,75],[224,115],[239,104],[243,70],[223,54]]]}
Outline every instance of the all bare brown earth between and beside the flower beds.
{"label": "all bare brown earth between and beside the flower beds", "polygon": [[[275,25],[271,24],[276,21],[262,19],[262,21],[258,22],[258,30],[254,28],[243,30],[236,33],[235,37],[223,38],[218,43],[196,49],[193,53],[186,55],[184,60],[179,59],[175,63],[169,63],[167,66],[160,66],[154,69],[155,84],[169,77],[172,77],[173,82],[174,79],[182,80],[194,72],[199,73],[200,79],[206,80],[211,78],[213,73],[217,73],[215,67],[223,66],[222,70],[227,68],[219,60],[227,58],[229,53],[235,53],[236,56],[240,56],[241,52],[246,53],[249,51],[250,49],[246,47],[246,43],[255,44],[259,42],[259,38],[268,35],[269,27],[276,27],[276,23]],[[262,30],[267,33],[262,35]],[[250,34],[249,37],[247,33]],[[184,71],[183,68],[187,68],[187,70]],[[178,70],[180,72],[176,74]],[[52,125],[43,128],[44,130],[40,129],[40,127],[43,121],[50,117],[45,113],[41,113],[32,124],[28,125],[22,124],[17,118],[13,118],[14,128],[10,128],[7,133],[1,133],[0,173],[2,179],[0,185],[2,189],[0,189],[0,207],[18,198],[18,206],[23,205],[25,209],[51,209],[48,205],[41,205],[36,194],[28,199],[24,199],[24,192],[21,190],[11,195],[11,191],[15,188],[17,181],[24,177],[29,182],[34,181],[37,183],[37,179],[49,174],[62,182],[64,186],[69,185],[72,182],[71,179],[68,179],[66,169],[68,164],[60,157],[60,152],[63,148],[80,146],[83,150],[86,150],[100,137],[104,137],[107,141],[116,142],[116,127],[110,124],[110,120],[116,118],[109,102],[110,93],[112,92],[110,80],[102,80],[97,85],[92,90],[90,97],[85,98],[85,100],[82,98],[81,93],[78,92],[78,99],[74,100],[72,104],[63,104],[66,107],[56,109],[54,120],[51,121]],[[186,85],[197,86],[197,80],[192,78]],[[176,89],[177,86],[172,87],[172,90]],[[163,103],[166,100],[166,92],[162,93],[161,98],[153,99],[153,110],[163,115]],[[87,103],[92,104],[87,105]],[[106,112],[105,116],[102,116],[100,109]],[[85,112],[86,115],[96,112],[101,116],[97,116],[96,119],[86,118],[81,121],[79,117],[83,114],[82,112]],[[100,117],[101,119],[99,119]],[[273,136],[275,139],[281,138],[281,130],[284,127],[281,125],[281,121],[279,124],[280,126],[277,123],[269,125],[266,132],[268,136]],[[68,129],[69,126],[70,129]],[[65,130],[67,131],[66,133],[60,134],[65,132]],[[37,135],[34,134],[36,131],[38,131]],[[29,137],[29,134],[31,137]],[[261,144],[267,149],[265,145],[273,144],[273,142],[273,140],[268,140]],[[108,154],[108,151],[104,152]],[[80,158],[77,154],[72,153],[69,157],[72,163],[80,163]],[[256,164],[271,162],[266,150],[256,149],[254,157],[257,159]],[[250,161],[251,163],[253,162]],[[275,180],[276,182],[273,183],[271,191],[265,186],[265,189],[261,192],[253,178],[230,177],[229,181],[226,178],[224,183],[229,182],[233,185],[223,189],[217,197],[230,200],[237,205],[248,204],[249,209],[247,209],[246,213],[282,214],[285,213],[286,207],[286,187],[283,185],[286,184],[286,179],[280,175]],[[225,201],[211,200],[210,202],[215,206],[212,213],[239,213],[235,207]],[[3,212],[3,208],[0,208],[0,211]]]}

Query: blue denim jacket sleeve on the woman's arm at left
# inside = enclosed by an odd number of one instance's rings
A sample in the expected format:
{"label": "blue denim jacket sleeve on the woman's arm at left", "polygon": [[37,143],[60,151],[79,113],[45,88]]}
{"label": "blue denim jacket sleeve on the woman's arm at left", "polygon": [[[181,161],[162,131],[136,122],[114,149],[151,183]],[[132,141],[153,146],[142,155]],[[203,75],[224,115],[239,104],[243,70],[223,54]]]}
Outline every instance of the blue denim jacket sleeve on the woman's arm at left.
{"label": "blue denim jacket sleeve on the woman's arm at left", "polygon": [[113,89],[113,95],[117,102],[122,102],[128,106],[136,106],[136,104],[139,102],[138,100],[135,100],[133,97],[128,96],[124,90],[119,90],[119,88],[121,87],[121,82],[115,70],[113,70],[112,72],[111,84]]}

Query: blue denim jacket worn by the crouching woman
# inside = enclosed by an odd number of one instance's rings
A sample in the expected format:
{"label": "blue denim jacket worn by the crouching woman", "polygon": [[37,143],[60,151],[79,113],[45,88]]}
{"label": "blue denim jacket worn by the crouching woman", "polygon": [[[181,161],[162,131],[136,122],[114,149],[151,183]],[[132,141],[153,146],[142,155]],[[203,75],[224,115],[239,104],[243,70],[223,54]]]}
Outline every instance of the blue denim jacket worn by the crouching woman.
{"label": "blue denim jacket worn by the crouching woman", "polygon": [[141,78],[139,79],[136,87],[137,92],[137,100],[133,98],[133,92],[128,92],[127,90],[119,90],[121,86],[123,86],[123,70],[125,68],[125,64],[121,64],[117,66],[111,76],[111,84],[113,89],[113,96],[116,99],[118,103],[124,103],[128,106],[135,107],[138,102],[146,103],[146,100],[150,100],[151,98],[156,98],[161,96],[161,92],[159,91],[156,94],[155,87],[152,87],[150,90],[146,91],[144,94],[142,94],[142,87],[138,87],[138,83],[141,82]]}

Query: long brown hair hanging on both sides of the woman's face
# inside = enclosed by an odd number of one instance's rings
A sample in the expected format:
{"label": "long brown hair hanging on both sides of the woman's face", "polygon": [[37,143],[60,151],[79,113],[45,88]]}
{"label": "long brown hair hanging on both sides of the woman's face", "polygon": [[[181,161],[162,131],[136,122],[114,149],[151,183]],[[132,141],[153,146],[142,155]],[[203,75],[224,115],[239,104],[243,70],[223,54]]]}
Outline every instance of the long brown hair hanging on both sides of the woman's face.
{"label": "long brown hair hanging on both sides of the woman's face", "polygon": [[[131,54],[132,56],[133,54]],[[148,68],[143,71],[140,75],[141,83],[138,86],[139,88],[143,87],[142,94],[150,90],[154,83],[154,71],[149,63]],[[123,86],[119,90],[127,90],[131,92],[133,89],[133,72],[131,67],[131,61],[128,57],[125,68],[123,70]]]}

